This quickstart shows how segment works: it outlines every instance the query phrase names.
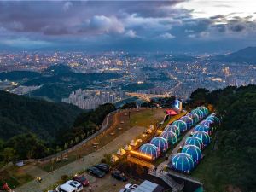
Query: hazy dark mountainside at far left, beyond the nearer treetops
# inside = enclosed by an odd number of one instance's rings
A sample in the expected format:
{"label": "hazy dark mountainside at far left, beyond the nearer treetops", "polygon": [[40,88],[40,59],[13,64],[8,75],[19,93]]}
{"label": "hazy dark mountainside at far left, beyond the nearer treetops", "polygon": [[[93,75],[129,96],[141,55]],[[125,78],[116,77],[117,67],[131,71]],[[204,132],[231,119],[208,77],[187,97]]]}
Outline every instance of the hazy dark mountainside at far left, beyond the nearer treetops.
{"label": "hazy dark mountainside at far left, beyond the nearer treetops", "polygon": [[0,139],[32,132],[51,141],[68,129],[83,110],[65,103],[53,103],[0,91]]}

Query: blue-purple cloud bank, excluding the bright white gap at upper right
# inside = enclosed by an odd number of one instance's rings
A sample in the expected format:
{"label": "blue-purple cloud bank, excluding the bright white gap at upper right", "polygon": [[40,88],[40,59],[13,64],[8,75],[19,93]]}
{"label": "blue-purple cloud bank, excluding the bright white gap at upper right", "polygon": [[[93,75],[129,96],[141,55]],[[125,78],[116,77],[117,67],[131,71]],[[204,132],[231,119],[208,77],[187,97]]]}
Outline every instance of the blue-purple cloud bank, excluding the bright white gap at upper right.
{"label": "blue-purple cloud bank, excluding the bright white gap at upper right", "polygon": [[201,40],[256,36],[252,16],[194,18],[194,10],[177,8],[185,1],[0,1],[0,44],[116,48],[144,44],[156,49],[161,44],[168,49]]}

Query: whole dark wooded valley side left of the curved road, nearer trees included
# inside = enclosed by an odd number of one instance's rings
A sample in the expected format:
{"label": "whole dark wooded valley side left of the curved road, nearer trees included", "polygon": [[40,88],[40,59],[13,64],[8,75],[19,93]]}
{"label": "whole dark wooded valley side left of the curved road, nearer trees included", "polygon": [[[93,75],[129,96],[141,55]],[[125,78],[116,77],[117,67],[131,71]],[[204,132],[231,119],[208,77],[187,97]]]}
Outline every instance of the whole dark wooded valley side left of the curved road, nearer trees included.
{"label": "whole dark wooded valley side left of the curved road, nearer trees included", "polygon": [[[43,158],[70,148],[101,128],[108,113],[104,104],[94,111],[0,91],[0,161]],[[82,113],[81,113],[82,112]]]}

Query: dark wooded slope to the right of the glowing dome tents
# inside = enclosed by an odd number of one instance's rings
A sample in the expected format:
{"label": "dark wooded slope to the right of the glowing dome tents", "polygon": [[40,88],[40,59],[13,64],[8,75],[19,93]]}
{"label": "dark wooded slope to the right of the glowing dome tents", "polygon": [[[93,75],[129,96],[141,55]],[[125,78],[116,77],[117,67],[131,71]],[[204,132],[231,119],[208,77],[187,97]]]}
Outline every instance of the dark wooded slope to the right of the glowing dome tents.
{"label": "dark wooded slope to the right of the glowing dome tents", "polygon": [[214,104],[222,119],[217,132],[218,149],[210,154],[216,157],[210,162],[213,172],[205,172],[204,178],[211,177],[212,191],[237,188],[244,192],[255,191],[256,86],[227,87],[212,92],[195,90],[189,105],[204,103]]}

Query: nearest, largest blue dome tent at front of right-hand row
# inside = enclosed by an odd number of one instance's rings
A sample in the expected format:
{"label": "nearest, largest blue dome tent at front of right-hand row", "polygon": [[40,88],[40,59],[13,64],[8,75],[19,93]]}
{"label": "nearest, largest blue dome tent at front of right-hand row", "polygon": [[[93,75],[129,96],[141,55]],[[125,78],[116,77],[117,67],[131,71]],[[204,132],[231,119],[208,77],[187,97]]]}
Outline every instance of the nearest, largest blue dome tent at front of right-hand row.
{"label": "nearest, largest blue dome tent at front of right-hand row", "polygon": [[172,168],[189,173],[194,168],[194,162],[189,154],[178,153],[172,157]]}

